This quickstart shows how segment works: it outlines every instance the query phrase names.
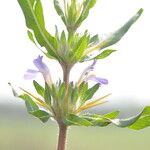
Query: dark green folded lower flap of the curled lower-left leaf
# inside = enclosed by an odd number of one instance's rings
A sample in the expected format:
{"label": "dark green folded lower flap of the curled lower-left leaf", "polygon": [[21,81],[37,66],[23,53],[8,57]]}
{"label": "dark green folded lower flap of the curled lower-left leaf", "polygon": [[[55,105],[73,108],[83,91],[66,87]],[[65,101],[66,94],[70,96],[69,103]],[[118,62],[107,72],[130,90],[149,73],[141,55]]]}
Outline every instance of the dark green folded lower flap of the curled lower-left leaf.
{"label": "dark green folded lower flap of the curled lower-left leaf", "polygon": [[50,114],[43,110],[35,111],[32,115],[39,118],[43,123],[47,122],[50,118]]}

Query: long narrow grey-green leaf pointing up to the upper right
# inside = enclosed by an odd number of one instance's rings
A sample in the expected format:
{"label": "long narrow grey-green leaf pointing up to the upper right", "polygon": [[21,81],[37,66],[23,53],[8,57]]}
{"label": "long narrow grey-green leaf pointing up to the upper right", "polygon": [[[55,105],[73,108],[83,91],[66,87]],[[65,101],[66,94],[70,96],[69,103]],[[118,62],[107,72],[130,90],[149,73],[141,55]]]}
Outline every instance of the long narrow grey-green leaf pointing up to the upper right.
{"label": "long narrow grey-green leaf pointing up to the upper right", "polygon": [[130,27],[139,19],[142,12],[143,12],[143,9],[140,9],[126,24],[124,24],[120,29],[114,32],[110,37],[108,37],[106,40],[100,43],[99,49],[106,48],[120,41],[121,38],[130,29]]}

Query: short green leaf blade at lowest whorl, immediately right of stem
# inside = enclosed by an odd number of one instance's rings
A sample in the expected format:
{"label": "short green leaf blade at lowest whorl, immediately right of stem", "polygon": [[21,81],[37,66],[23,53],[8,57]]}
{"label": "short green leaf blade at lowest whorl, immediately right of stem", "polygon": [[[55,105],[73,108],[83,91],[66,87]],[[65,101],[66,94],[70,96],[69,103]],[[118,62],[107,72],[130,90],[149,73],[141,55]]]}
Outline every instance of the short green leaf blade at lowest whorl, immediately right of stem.
{"label": "short green leaf blade at lowest whorl, immediately right of stem", "polygon": [[67,120],[65,121],[66,125],[71,126],[71,125],[77,125],[77,126],[92,126],[93,124],[89,122],[88,120],[74,115],[70,114],[67,117]]}

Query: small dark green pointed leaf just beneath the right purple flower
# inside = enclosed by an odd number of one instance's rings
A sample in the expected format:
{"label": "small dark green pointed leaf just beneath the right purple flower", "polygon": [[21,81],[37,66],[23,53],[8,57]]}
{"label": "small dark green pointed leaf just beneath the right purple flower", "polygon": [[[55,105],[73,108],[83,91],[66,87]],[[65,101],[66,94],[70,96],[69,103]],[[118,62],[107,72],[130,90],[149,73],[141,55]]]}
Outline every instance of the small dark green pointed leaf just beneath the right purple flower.
{"label": "small dark green pointed leaf just beneath the right purple flower", "polygon": [[84,103],[87,100],[91,99],[93,97],[93,95],[96,93],[96,91],[99,89],[99,87],[100,87],[99,84],[95,84],[93,87],[88,89],[82,97],[82,100],[81,100],[82,103]]}

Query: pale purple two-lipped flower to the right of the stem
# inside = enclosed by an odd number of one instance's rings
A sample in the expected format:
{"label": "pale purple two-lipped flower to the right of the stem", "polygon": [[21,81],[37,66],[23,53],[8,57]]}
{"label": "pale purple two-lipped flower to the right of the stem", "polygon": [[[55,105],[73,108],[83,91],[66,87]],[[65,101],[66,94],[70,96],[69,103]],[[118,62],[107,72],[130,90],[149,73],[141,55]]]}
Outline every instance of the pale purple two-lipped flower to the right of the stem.
{"label": "pale purple two-lipped flower to the right of the stem", "polygon": [[96,65],[96,60],[93,61],[91,65],[89,65],[86,69],[84,69],[83,73],[81,74],[78,84],[81,82],[85,81],[87,82],[88,80],[95,81],[99,84],[108,84],[108,80],[104,78],[97,77],[95,74],[91,74],[91,72],[94,70],[94,67]]}

